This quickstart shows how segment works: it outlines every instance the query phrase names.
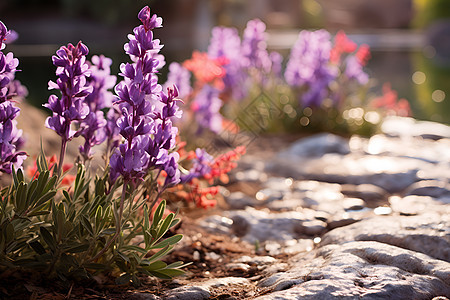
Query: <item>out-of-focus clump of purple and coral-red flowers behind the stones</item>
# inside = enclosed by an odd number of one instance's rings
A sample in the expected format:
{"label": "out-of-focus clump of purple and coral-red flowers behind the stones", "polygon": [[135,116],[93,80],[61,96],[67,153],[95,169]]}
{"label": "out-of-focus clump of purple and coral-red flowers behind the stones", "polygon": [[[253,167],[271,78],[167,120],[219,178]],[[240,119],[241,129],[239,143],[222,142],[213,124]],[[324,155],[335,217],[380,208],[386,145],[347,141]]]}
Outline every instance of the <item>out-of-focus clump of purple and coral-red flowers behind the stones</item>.
{"label": "out-of-focus clump of purple and coral-red flowers behind the stones", "polygon": [[283,62],[268,51],[265,28],[251,20],[241,39],[235,28],[215,27],[208,52],[169,66],[168,82],[182,87],[185,107],[196,112],[186,116],[190,128],[370,135],[383,116],[410,113],[408,102],[399,112],[392,109],[396,104],[372,99],[367,45],[358,46],[343,31],[332,37],[323,29],[303,30]]}

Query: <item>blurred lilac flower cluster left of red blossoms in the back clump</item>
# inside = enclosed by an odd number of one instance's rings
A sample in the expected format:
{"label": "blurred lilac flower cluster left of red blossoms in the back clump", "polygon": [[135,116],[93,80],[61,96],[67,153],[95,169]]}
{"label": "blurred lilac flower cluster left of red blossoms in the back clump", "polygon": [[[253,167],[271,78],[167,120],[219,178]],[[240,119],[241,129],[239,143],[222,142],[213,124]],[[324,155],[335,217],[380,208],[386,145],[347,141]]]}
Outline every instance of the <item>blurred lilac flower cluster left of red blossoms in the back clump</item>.
{"label": "blurred lilac flower cluster left of red blossoms in the back clump", "polygon": [[291,86],[308,87],[301,99],[304,106],[319,106],[337,76],[336,69],[329,65],[330,51],[326,30],[301,31],[292,48],[284,77]]}

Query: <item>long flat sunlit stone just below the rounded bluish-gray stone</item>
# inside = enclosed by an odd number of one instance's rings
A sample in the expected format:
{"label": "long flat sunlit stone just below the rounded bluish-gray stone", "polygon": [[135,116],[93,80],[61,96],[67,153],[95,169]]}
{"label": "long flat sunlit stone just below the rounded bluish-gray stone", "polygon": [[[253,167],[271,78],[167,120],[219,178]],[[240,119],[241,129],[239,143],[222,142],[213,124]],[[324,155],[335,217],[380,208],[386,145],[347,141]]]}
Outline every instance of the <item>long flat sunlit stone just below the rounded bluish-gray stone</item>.
{"label": "long flat sunlit stone just below the rounded bluish-gray stone", "polygon": [[[327,154],[321,158],[276,159],[267,169],[297,180],[317,180],[339,184],[373,184],[389,193],[402,192],[419,181],[418,170],[436,168],[433,163],[380,155]],[[448,172],[448,170],[447,170]]]}

